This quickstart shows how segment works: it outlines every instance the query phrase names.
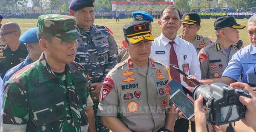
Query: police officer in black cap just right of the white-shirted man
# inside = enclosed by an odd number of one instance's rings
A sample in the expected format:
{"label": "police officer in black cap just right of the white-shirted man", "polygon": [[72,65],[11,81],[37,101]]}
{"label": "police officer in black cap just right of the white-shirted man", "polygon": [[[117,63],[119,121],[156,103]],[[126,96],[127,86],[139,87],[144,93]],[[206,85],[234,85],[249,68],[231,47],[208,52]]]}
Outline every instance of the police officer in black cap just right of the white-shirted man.
{"label": "police officer in black cap just right of the white-shirted man", "polygon": [[188,41],[193,44],[198,53],[203,47],[211,44],[211,40],[208,37],[197,34],[200,30],[200,16],[195,12],[188,12],[183,15],[182,19],[181,32],[182,34],[178,37]]}

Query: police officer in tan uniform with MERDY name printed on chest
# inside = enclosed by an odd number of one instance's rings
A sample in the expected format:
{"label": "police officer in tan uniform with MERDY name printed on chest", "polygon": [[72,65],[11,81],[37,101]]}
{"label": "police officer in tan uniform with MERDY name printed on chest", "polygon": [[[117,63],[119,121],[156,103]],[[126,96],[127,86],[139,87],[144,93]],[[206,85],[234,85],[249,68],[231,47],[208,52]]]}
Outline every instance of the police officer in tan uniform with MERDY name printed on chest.
{"label": "police officer in tan uniform with MERDY name printed on chest", "polygon": [[97,115],[113,132],[171,132],[177,114],[169,107],[170,74],[149,58],[154,40],[149,23],[133,21],[123,30],[130,56],[107,74]]}

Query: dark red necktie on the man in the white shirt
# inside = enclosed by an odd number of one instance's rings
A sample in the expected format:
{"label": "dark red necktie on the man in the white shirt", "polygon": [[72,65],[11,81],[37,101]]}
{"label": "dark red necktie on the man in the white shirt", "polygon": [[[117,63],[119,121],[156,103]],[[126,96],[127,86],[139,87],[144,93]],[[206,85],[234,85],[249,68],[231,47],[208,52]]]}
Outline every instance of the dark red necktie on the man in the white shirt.
{"label": "dark red necktie on the man in the white shirt", "polygon": [[176,53],[174,51],[174,47],[173,47],[175,42],[172,41],[172,42],[169,42],[169,44],[171,44],[171,49],[170,49],[170,74],[171,74],[171,78],[174,78],[179,83],[181,83],[181,78],[179,77],[179,72],[173,68],[173,66],[179,67],[177,55],[176,55]]}

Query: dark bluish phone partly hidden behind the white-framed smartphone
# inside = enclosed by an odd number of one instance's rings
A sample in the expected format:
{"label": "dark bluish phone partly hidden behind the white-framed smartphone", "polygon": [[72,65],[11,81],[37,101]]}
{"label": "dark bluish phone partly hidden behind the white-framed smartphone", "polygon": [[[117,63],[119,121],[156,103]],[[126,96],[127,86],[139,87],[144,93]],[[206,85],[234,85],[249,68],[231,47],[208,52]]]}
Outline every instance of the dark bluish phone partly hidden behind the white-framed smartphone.
{"label": "dark bluish phone partly hidden behind the white-framed smartphone", "polygon": [[170,94],[174,94],[178,89],[180,89],[185,95],[189,94],[189,96],[192,96],[193,93],[190,92],[188,89],[186,89],[183,85],[181,85],[177,80],[172,79],[169,81],[166,85],[169,88]]}

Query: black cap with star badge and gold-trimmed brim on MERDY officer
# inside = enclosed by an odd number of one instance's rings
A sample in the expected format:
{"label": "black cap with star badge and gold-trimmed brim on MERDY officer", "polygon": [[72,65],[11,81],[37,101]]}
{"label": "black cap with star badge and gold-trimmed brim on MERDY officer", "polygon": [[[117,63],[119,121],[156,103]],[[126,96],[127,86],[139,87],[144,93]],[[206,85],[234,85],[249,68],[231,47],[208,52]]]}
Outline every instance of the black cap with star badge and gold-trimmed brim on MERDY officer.
{"label": "black cap with star badge and gold-trimmed brim on MERDY officer", "polygon": [[123,26],[124,37],[131,44],[136,44],[142,40],[154,41],[153,35],[149,30],[149,22],[147,21],[132,21]]}

